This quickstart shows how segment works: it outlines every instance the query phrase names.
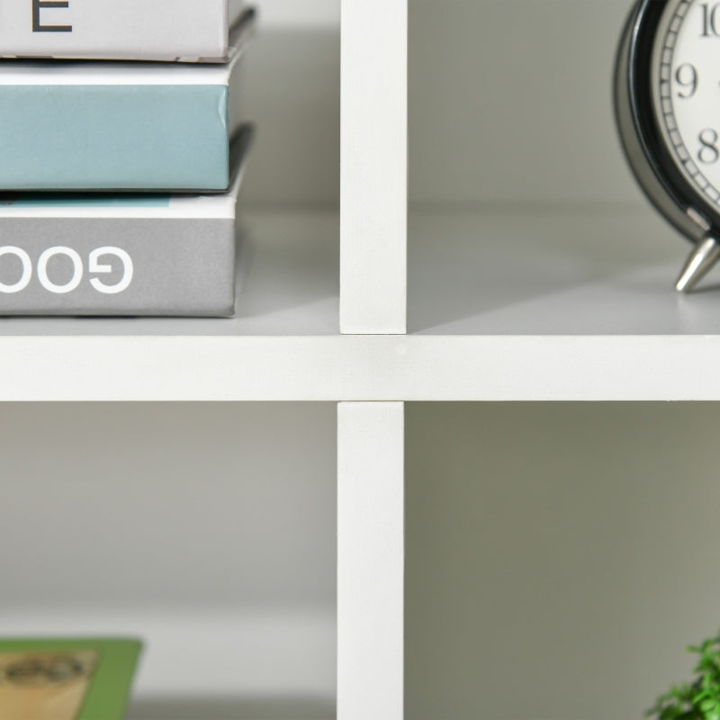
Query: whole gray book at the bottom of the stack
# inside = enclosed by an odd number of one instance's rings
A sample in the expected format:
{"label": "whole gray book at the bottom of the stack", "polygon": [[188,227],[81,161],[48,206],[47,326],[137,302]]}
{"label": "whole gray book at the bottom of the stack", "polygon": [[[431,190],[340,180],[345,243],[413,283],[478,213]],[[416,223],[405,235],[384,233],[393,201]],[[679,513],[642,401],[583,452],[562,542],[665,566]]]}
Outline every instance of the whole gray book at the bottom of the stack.
{"label": "whole gray book at the bottom of the stack", "polygon": [[0,196],[0,315],[232,315],[250,134],[228,193]]}

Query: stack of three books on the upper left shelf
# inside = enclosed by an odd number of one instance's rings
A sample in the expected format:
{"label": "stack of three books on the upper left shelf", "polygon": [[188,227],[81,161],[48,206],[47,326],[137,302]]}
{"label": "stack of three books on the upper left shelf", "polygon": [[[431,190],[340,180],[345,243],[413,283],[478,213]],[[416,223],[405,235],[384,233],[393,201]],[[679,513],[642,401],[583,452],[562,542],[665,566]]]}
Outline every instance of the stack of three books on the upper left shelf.
{"label": "stack of three books on the upper left shelf", "polygon": [[0,0],[0,18],[0,314],[233,314],[253,11]]}

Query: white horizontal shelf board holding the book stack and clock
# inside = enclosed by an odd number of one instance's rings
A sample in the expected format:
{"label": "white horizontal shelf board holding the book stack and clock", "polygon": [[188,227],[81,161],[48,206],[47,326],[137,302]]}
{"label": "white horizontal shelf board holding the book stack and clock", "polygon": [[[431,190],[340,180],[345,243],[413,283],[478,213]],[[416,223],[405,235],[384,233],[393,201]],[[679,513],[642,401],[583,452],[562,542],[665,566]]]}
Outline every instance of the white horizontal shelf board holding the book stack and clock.
{"label": "white horizontal shelf board holding the book stack and clock", "polygon": [[337,217],[252,223],[238,320],[10,320],[0,400],[720,400],[720,292],[652,211],[411,215],[410,336],[338,334]]}

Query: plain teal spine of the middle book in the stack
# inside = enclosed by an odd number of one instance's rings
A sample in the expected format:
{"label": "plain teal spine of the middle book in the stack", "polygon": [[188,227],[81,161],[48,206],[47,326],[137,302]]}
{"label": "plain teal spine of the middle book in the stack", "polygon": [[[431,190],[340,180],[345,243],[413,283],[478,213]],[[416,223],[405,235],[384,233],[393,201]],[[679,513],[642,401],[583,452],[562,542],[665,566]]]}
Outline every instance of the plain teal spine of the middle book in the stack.
{"label": "plain teal spine of the middle book in the stack", "polygon": [[222,192],[228,86],[0,85],[0,157],[3,190]]}

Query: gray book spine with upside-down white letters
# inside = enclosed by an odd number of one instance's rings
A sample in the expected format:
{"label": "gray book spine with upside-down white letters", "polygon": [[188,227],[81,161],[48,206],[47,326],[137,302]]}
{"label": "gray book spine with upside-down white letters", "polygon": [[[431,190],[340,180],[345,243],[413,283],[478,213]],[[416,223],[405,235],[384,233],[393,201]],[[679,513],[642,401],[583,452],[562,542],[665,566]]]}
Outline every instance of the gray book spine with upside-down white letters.
{"label": "gray book spine with upside-down white letters", "polygon": [[3,218],[0,315],[227,317],[231,219]]}

